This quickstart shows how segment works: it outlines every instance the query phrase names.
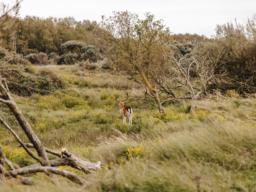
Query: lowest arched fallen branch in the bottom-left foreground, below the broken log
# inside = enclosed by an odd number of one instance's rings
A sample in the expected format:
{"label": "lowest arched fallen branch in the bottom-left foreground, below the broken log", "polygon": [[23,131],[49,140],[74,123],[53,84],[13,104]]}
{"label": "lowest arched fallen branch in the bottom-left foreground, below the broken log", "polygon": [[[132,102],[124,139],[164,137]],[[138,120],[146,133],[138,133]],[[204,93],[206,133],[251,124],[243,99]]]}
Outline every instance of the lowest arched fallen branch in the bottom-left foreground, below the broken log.
{"label": "lowest arched fallen branch in the bottom-left foreground, below the broken log", "polygon": [[19,168],[19,169],[13,170],[13,171],[5,172],[4,175],[7,178],[10,178],[10,177],[16,177],[17,175],[37,173],[37,172],[44,172],[46,174],[53,173],[53,174],[61,175],[63,177],[67,177],[69,180],[71,180],[75,183],[78,183],[84,187],[89,185],[89,182],[84,180],[82,177],[79,177],[70,171],[62,170],[62,169],[59,169],[56,167],[47,167],[47,166],[23,167],[23,168]]}

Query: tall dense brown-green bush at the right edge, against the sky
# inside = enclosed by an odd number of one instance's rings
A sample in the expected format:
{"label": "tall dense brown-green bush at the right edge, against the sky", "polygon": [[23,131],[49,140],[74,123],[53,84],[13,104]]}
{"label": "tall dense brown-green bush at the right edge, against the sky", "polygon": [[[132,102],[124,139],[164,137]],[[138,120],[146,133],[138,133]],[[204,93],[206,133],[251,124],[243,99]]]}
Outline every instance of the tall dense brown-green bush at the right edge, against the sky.
{"label": "tall dense brown-green bush at the right edge, against the sky", "polygon": [[[222,91],[237,90],[239,93],[254,93],[256,90],[256,15],[248,18],[245,25],[235,20],[216,27],[216,41],[212,42],[217,49],[223,47],[226,51],[225,63],[226,78],[217,80],[212,87]],[[201,50],[204,55],[204,50]],[[216,49],[211,49],[214,54]]]}

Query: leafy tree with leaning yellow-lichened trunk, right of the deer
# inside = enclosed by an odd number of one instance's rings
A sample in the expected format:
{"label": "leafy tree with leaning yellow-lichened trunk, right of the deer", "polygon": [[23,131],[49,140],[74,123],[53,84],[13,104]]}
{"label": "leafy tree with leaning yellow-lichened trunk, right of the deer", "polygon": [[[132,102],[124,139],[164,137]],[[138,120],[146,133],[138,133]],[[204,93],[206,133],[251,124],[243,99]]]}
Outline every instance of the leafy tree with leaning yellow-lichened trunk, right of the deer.
{"label": "leafy tree with leaning yellow-lichened trunk, right of the deer", "polygon": [[163,55],[168,49],[169,28],[163,25],[163,20],[155,21],[150,13],[145,14],[144,20],[128,11],[113,14],[108,19],[102,16],[97,33],[107,49],[106,55],[112,58],[113,65],[143,85],[157,103],[159,112],[164,113],[154,83],[166,65]]}

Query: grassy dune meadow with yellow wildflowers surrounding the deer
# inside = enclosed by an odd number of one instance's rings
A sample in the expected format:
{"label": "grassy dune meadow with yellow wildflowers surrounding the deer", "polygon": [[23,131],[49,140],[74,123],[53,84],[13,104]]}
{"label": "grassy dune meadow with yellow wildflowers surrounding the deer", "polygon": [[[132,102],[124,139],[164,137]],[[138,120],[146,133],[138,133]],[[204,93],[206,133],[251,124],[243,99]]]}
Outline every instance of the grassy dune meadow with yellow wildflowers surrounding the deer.
{"label": "grassy dune meadow with yellow wildflowers surrounding the deer", "polygon": [[[34,66],[40,70],[45,66]],[[134,109],[133,125],[122,124],[114,101],[116,93],[133,85],[121,73],[81,70],[78,65],[46,66],[62,78],[66,88],[50,95],[13,95],[43,144],[51,149],[67,147],[84,160],[101,161],[101,170],[85,175],[87,191],[256,191],[256,98],[228,92],[228,100],[200,100],[195,115],[189,103],[173,101],[157,107]],[[1,116],[19,136],[24,132],[4,104]],[[17,148],[14,137],[1,125],[5,155],[19,166],[34,162]],[[50,158],[53,156],[49,155]],[[7,168],[7,167],[6,167]],[[78,191],[80,186],[59,177],[60,186],[45,175],[36,186],[8,181],[1,191]]]}

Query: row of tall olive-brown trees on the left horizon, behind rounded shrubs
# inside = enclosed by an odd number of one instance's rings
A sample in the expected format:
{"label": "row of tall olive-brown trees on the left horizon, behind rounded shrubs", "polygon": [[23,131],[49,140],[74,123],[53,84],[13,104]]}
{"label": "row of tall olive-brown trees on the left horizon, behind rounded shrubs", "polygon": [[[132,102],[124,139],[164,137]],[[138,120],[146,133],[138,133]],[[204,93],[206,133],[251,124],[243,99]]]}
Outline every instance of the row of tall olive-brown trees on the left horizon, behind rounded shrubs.
{"label": "row of tall olive-brown trees on the left horizon, behind rounded shrubs", "polygon": [[61,54],[61,44],[76,40],[86,45],[99,46],[94,38],[96,21],[76,21],[73,17],[40,18],[37,16],[10,17],[15,22],[11,30],[2,32],[1,47],[17,54],[43,52]]}

